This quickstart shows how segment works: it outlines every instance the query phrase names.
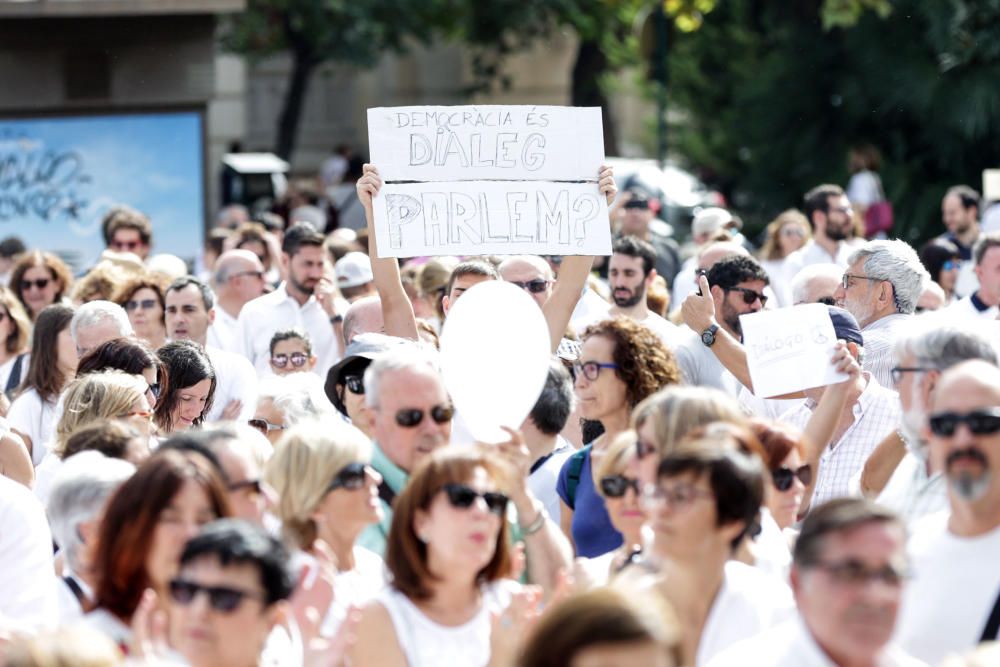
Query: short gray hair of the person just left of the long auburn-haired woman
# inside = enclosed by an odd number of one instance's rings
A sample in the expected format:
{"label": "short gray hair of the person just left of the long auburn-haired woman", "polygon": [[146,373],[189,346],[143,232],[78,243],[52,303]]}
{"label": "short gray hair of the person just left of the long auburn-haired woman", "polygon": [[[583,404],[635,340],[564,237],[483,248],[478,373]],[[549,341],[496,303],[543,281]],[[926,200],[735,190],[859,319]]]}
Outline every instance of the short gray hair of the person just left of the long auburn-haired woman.
{"label": "short gray hair of the person just left of the long auburn-haired woman", "polygon": [[79,573],[80,524],[99,517],[108,498],[132,476],[135,466],[98,451],[74,454],[59,467],[52,483],[46,514],[52,539],[66,555],[66,562]]}

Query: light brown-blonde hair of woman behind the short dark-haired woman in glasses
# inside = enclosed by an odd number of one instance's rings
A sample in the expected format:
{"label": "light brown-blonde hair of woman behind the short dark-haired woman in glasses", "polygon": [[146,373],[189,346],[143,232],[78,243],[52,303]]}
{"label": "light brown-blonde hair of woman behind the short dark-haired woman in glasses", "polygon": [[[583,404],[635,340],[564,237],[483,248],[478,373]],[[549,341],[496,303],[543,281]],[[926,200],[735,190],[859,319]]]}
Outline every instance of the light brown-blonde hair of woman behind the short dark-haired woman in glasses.
{"label": "light brown-blonde hair of woman behind the short dark-haired woman in glasses", "polygon": [[632,411],[632,429],[651,420],[660,458],[698,426],[716,421],[746,425],[747,417],[728,394],[711,387],[674,386],[656,392]]}

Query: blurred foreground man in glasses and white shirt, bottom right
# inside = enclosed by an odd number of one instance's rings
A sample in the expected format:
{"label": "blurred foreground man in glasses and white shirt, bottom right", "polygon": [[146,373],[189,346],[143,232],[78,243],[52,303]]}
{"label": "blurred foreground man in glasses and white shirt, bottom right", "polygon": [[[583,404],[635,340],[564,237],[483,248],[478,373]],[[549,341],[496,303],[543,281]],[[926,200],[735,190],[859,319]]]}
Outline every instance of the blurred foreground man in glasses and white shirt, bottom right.
{"label": "blurred foreground man in glasses and white shirt, bottom right", "polygon": [[905,544],[896,515],[868,501],[818,508],[795,545],[799,617],[734,644],[709,667],[923,665],[890,643],[907,575]]}

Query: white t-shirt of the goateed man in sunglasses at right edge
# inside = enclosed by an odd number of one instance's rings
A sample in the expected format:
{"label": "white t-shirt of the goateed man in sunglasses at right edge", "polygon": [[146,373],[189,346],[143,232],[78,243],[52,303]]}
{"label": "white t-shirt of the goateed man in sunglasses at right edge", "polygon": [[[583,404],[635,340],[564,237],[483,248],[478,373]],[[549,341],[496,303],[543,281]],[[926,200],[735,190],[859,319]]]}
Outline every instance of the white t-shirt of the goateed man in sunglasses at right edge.
{"label": "white t-shirt of the goateed man in sunglasses at right edge", "polygon": [[932,665],[979,643],[1000,595],[1000,527],[958,537],[948,517],[938,512],[914,526],[907,545],[913,578],[896,624],[899,645]]}

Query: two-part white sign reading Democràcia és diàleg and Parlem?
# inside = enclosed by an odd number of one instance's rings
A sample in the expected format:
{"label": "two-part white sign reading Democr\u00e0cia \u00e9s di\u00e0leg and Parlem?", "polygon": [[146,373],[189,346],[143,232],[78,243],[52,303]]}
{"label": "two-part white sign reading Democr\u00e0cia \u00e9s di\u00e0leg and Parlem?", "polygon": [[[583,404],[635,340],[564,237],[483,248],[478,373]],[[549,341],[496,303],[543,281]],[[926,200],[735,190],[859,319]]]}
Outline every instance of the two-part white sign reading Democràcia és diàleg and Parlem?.
{"label": "two-part white sign reading Democr\u00e0cia \u00e9s di\u00e0leg and Parlem?", "polygon": [[368,110],[378,253],[606,255],[598,108]]}

